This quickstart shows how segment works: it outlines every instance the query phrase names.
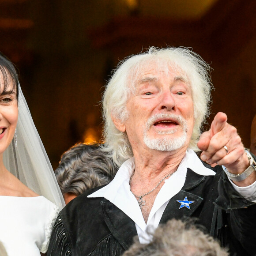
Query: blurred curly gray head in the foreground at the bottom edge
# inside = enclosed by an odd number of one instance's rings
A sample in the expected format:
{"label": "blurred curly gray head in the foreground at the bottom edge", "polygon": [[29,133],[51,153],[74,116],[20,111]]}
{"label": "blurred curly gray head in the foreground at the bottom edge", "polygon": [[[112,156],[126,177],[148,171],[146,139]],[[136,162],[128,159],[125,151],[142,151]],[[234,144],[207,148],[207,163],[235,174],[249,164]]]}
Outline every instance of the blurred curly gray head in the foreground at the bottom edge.
{"label": "blurred curly gray head in the foreground at the bottom edge", "polygon": [[213,237],[203,233],[191,222],[172,219],[155,230],[149,244],[134,244],[123,256],[228,256]]}

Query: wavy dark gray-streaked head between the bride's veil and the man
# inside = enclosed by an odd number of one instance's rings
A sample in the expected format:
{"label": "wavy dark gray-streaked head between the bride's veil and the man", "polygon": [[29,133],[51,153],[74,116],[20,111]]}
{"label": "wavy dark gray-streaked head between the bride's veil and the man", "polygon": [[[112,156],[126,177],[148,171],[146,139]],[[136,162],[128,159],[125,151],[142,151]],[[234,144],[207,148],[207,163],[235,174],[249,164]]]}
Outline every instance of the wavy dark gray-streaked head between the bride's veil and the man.
{"label": "wavy dark gray-streaked head between the bride's veil and the man", "polygon": [[109,183],[116,172],[112,158],[99,144],[79,143],[62,154],[55,175],[68,203],[90,188]]}

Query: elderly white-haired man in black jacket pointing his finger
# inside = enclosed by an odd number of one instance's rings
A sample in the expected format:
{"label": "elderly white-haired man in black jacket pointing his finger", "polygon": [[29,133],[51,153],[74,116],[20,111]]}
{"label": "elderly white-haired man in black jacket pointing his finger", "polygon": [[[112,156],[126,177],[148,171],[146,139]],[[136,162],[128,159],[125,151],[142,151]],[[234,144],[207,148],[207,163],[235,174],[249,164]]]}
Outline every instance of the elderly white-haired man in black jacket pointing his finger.
{"label": "elderly white-haired man in black jacket pointing his finger", "polygon": [[200,136],[211,87],[210,67],[185,48],[119,64],[103,97],[103,150],[120,168],[60,212],[48,255],[121,255],[135,235],[148,243],[159,223],[189,217],[230,255],[256,255],[255,158],[224,113]]}

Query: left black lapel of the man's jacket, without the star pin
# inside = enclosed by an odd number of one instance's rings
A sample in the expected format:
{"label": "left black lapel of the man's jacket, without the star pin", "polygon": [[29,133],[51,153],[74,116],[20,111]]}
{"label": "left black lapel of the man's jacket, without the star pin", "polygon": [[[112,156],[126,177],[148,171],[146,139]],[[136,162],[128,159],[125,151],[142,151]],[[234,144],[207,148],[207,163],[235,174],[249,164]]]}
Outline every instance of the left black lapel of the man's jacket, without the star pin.
{"label": "left black lapel of the man's jacket, without the star pin", "polygon": [[110,232],[127,250],[133,244],[133,237],[137,235],[135,223],[113,203],[102,202],[102,210]]}

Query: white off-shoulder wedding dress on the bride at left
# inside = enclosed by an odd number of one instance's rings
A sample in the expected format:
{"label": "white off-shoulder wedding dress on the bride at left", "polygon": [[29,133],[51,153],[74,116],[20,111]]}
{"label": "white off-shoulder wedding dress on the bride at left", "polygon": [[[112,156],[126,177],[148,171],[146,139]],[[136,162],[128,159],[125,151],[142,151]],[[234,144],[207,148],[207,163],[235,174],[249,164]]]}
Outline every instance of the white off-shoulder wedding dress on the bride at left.
{"label": "white off-shoulder wedding dress on the bride at left", "polygon": [[58,212],[43,196],[0,196],[0,241],[8,256],[45,253]]}

